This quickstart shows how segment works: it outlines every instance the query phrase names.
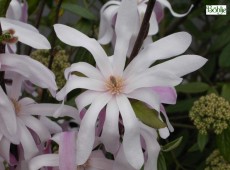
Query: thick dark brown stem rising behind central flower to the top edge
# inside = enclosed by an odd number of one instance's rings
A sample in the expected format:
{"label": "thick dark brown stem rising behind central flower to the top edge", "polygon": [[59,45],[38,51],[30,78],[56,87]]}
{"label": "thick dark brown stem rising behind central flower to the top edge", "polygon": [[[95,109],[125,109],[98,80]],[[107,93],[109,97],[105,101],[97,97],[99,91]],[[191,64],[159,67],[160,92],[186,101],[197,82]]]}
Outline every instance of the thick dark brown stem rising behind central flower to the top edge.
{"label": "thick dark brown stem rising behind central flower to the top edge", "polygon": [[146,36],[148,35],[149,30],[149,20],[153,12],[153,7],[155,5],[156,0],[149,0],[147,9],[143,18],[143,21],[141,23],[141,28],[139,30],[139,33],[137,35],[137,39],[135,41],[135,44],[133,46],[133,50],[130,55],[129,61],[132,61],[134,57],[138,54]]}

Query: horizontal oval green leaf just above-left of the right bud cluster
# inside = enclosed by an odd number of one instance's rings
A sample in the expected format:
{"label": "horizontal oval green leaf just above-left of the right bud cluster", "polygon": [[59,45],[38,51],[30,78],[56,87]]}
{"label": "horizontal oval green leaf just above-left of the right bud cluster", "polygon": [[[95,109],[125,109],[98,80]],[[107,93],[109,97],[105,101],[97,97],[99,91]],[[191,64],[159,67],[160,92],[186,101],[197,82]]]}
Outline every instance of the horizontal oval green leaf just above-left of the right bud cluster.
{"label": "horizontal oval green leaf just above-left of the right bud cluster", "polygon": [[177,92],[182,93],[201,93],[209,89],[209,85],[203,82],[192,82],[181,84],[176,87]]}

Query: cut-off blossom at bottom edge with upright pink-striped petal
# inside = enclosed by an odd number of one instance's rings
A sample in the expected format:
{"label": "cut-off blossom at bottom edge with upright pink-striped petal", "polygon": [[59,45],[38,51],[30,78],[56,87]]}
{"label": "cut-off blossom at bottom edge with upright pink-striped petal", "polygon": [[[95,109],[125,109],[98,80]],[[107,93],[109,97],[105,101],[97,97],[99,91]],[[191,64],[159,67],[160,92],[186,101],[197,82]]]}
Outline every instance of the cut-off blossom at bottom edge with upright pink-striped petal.
{"label": "cut-off blossom at bottom edge with upright pink-striped petal", "polygon": [[[93,151],[84,165],[76,165],[76,132],[63,132],[55,135],[59,145],[58,154],[44,154],[29,161],[29,170],[38,170],[44,166],[56,167],[55,170],[109,170],[113,161],[106,159],[102,151]],[[74,149],[75,148],[75,149]]]}

